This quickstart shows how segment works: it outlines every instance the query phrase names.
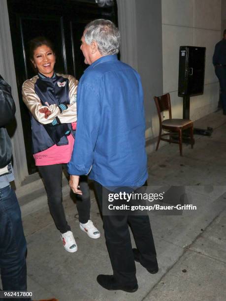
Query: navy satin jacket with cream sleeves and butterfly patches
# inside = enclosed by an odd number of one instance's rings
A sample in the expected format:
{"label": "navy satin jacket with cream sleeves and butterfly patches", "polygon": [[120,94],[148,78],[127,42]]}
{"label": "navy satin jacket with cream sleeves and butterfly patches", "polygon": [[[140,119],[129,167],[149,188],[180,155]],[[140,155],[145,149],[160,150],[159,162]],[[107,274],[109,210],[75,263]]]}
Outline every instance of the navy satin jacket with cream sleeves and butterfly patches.
{"label": "navy satin jacket with cream sleeves and butterfly patches", "polygon": [[31,116],[33,153],[54,144],[68,144],[69,131],[74,136],[71,122],[77,121],[77,86],[73,76],[58,73],[51,78],[38,73],[24,82],[22,94]]}

